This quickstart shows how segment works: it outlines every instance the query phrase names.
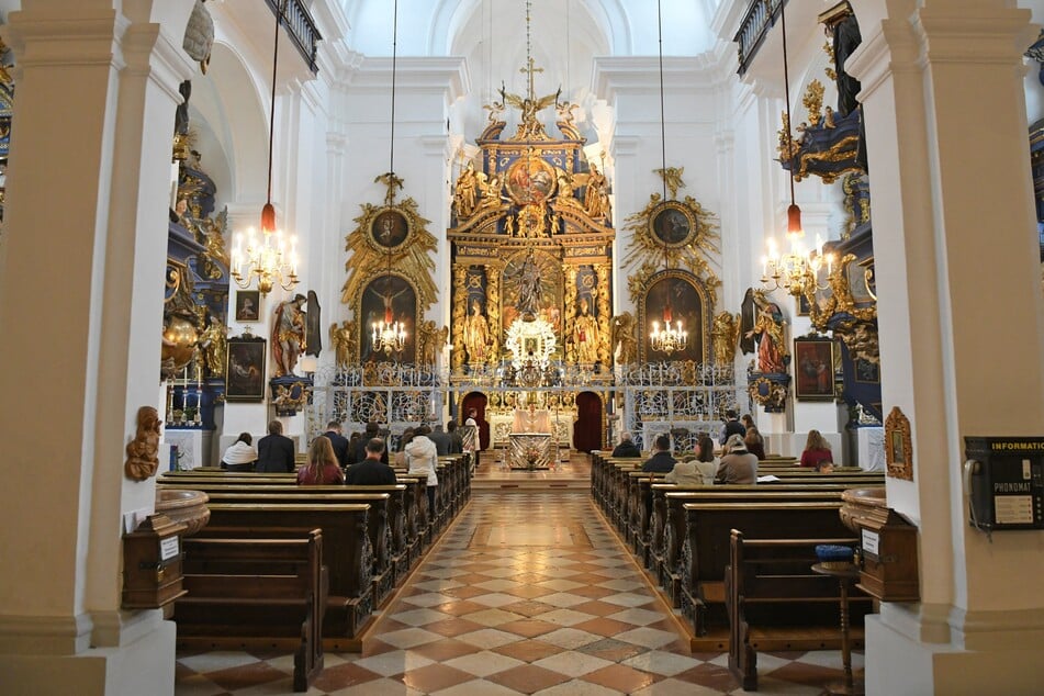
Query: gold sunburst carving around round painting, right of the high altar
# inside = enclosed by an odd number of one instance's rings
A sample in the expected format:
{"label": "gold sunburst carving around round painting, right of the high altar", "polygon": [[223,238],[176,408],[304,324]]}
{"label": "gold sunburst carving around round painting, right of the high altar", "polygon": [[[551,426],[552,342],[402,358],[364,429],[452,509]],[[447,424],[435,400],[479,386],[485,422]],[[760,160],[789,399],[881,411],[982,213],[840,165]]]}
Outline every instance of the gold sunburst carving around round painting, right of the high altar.
{"label": "gold sunburst carving around round painting, right of the high altar", "polygon": [[[720,254],[716,244],[719,238],[717,215],[705,210],[694,198],[686,195],[684,201],[661,201],[660,194],[653,193],[644,210],[625,221],[624,229],[632,235],[625,265],[641,265],[641,268],[654,270],[663,259],[669,268],[688,268],[708,288],[721,284],[705,256]],[[638,287],[644,287],[644,281],[639,281]],[[630,278],[628,288],[632,301],[637,302]]]}

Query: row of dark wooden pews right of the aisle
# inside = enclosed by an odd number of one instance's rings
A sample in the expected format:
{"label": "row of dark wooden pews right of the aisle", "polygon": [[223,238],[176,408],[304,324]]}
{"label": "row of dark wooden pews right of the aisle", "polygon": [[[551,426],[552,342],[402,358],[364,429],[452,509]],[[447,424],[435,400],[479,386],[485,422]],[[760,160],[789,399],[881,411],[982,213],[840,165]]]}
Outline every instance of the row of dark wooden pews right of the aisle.
{"label": "row of dark wooden pews right of the aisle", "polygon": [[[815,542],[827,539],[855,543],[852,531],[841,524],[841,492],[884,485],[884,474],[852,469],[819,473],[797,467],[794,460],[776,459],[759,463],[759,476],[772,474],[776,479],[772,482],[680,487],[665,483],[663,474],[642,472],[643,461],[592,453],[592,496],[637,561],[660,585],[665,599],[681,609],[691,624],[693,650],[730,650],[731,655],[732,650],[742,649],[743,655],[730,661],[737,665],[734,672],[744,685],[752,685],[756,684],[756,669],[752,666],[756,661],[751,650],[759,644],[773,646],[771,649],[792,646],[789,649],[795,650],[840,644],[840,591],[835,581],[824,582],[820,576],[778,581],[784,587],[778,596],[772,596],[774,619],[782,613],[784,619],[779,624],[784,625],[789,617],[792,625],[801,627],[792,635],[802,636],[804,640],[787,637],[767,640],[755,632],[759,638],[751,643],[746,639],[749,631],[740,639],[736,639],[734,630],[730,633],[730,627],[739,620],[737,617],[745,616],[745,605],[740,602],[730,622],[727,587],[733,568],[730,559],[733,530],[748,542],[774,540],[768,548],[800,549],[804,555],[792,554],[788,559],[789,574],[796,577],[794,569],[804,565],[804,575],[811,575]],[[760,569],[746,570],[739,580],[740,585],[749,583],[771,595],[764,591],[765,583],[776,581],[764,577]],[[788,582],[795,593],[789,604],[785,588]],[[816,593],[820,594],[809,598],[809,594]],[[742,597],[743,593],[739,592],[738,596]],[[817,602],[831,606],[832,622],[823,618],[830,611],[805,610],[807,604]],[[860,603],[868,604],[865,596],[856,602]],[[755,621],[760,611],[753,613]],[[857,616],[862,618],[863,614],[865,610]],[[853,630],[852,636],[854,644],[860,644],[862,629]]]}

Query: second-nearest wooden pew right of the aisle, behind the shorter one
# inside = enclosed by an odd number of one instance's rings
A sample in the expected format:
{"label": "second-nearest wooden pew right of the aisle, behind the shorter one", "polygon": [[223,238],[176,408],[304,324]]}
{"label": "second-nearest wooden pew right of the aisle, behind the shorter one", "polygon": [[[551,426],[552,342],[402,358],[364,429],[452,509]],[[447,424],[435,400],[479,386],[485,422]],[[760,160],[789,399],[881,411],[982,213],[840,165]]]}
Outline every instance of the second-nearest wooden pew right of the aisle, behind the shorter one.
{"label": "second-nearest wooden pew right of the aisle, behind the shorter one", "polygon": [[725,569],[733,528],[750,539],[847,537],[840,502],[686,503],[680,551],[682,613],[693,622],[693,649],[728,649]]}

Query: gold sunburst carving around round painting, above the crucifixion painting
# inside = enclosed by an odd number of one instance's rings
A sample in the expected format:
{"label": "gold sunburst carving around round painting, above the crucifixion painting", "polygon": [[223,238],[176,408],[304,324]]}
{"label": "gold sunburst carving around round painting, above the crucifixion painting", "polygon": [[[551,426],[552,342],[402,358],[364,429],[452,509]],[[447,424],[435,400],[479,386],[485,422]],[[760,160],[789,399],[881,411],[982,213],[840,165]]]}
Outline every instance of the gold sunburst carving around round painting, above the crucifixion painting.
{"label": "gold sunburst carving around round painting, above the crucifixion painting", "polygon": [[[380,177],[379,177],[380,178]],[[389,191],[392,192],[395,179],[391,179]],[[384,217],[382,217],[382,215]],[[374,229],[378,218],[396,220],[405,231]],[[358,304],[359,293],[374,278],[388,273],[389,265],[397,274],[407,278],[417,289],[417,311],[420,315],[438,298],[438,288],[433,278],[435,261],[429,252],[436,249],[435,236],[427,231],[425,220],[417,212],[417,203],[407,198],[396,205],[371,205],[363,203],[362,215],[356,217],[357,227],[348,235],[346,249],[348,260],[345,269],[348,279],[340,294],[345,304]],[[384,237],[388,236],[385,239]]]}

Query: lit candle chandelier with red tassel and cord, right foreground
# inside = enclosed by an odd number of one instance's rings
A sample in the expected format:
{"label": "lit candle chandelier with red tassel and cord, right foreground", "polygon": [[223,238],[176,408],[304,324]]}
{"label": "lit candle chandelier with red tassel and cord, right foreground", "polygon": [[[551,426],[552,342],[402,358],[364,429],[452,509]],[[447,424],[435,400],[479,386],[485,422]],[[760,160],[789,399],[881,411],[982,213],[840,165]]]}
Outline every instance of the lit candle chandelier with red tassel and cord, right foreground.
{"label": "lit candle chandelier with red tassel and cord, right foreground", "polygon": [[[783,90],[786,99],[786,143],[783,157],[790,160],[794,157],[794,136],[790,131],[790,74],[787,59],[787,15],[786,2],[779,3],[779,26],[783,33]],[[805,229],[801,225],[801,209],[794,197],[794,167],[787,169],[790,175],[790,205],[787,207],[787,243],[789,250],[779,251],[776,240],[768,237],[765,242],[766,254],[761,257],[761,283],[770,292],[783,290],[795,298],[809,295],[817,290],[826,290],[827,283],[820,284],[819,271],[827,267],[827,276],[833,270],[833,255],[823,254],[822,239],[817,235],[816,247],[805,247]]]}

